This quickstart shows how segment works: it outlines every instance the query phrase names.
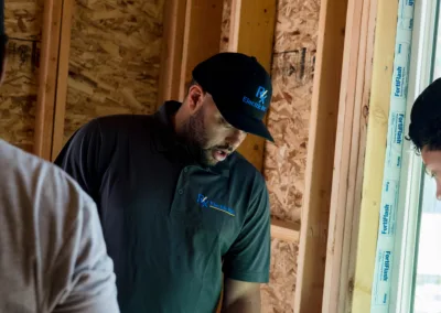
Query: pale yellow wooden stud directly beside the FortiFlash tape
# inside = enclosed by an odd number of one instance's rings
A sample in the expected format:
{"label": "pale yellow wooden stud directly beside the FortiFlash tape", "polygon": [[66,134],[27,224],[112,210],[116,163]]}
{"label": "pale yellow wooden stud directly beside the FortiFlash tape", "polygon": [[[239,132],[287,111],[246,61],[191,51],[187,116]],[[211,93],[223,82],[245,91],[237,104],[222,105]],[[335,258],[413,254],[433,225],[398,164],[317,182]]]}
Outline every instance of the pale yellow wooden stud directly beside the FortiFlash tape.
{"label": "pale yellow wooden stud directly beside the FortiFlash tape", "polygon": [[351,312],[370,312],[394,72],[398,1],[378,1],[369,118]]}

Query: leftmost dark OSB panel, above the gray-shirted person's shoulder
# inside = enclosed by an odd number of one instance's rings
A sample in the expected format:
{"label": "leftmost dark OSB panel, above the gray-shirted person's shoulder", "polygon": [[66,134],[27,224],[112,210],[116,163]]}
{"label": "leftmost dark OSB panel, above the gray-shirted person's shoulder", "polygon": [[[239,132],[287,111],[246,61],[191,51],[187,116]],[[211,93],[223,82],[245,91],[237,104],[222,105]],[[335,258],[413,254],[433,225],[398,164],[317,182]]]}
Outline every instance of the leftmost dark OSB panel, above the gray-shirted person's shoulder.
{"label": "leftmost dark OSB panel, above the gray-shirted person's shoulder", "polygon": [[0,87],[0,138],[32,152],[34,141],[42,1],[7,0],[7,77]]}

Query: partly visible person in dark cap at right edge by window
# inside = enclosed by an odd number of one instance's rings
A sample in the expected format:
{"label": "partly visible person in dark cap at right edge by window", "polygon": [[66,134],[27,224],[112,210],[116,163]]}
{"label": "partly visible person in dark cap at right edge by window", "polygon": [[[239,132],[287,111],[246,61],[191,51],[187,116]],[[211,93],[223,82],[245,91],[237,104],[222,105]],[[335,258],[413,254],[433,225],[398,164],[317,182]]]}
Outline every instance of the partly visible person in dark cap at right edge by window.
{"label": "partly visible person in dark cap at right edge by window", "polygon": [[410,114],[409,138],[421,153],[426,171],[437,182],[441,201],[441,78],[422,91]]}

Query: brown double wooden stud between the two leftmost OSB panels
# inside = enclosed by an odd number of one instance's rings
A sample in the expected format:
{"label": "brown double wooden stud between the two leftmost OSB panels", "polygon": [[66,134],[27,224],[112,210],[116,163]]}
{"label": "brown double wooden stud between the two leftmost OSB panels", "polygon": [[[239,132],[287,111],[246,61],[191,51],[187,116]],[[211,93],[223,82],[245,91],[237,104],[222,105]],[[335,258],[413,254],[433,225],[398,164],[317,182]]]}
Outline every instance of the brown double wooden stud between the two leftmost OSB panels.
{"label": "brown double wooden stud between the two leftmost OSB panels", "polygon": [[34,153],[46,160],[63,141],[72,6],[73,0],[44,2]]}

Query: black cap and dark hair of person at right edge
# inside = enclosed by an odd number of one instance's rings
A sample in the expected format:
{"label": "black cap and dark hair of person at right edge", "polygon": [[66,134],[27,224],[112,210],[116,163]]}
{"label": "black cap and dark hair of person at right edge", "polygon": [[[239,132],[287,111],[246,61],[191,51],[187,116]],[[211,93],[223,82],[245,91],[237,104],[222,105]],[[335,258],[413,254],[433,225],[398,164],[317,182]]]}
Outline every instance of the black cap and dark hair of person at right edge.
{"label": "black cap and dark hair of person at right edge", "polygon": [[441,150],[441,79],[434,80],[413,102],[408,140],[418,153]]}

